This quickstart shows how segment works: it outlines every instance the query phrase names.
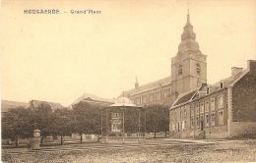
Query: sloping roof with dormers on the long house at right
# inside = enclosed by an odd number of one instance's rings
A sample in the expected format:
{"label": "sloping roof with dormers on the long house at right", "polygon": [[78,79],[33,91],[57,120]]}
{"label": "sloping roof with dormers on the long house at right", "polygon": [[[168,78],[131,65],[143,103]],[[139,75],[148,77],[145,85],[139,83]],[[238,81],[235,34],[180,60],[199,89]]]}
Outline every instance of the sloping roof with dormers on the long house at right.
{"label": "sloping roof with dormers on the long house at right", "polygon": [[[176,101],[171,106],[171,108],[178,107],[181,104],[185,104],[185,103],[188,103],[190,101],[197,100],[197,99],[203,98],[205,96],[214,94],[215,92],[221,91],[222,89],[227,88],[229,84],[238,81],[246,73],[248,73],[248,71],[244,70],[242,72],[237,73],[235,76],[230,76],[230,77],[228,77],[224,80],[218,81],[214,84],[205,84],[205,83],[203,83],[201,85],[201,87],[197,88],[197,90],[194,89],[194,90],[185,92],[183,94],[180,94],[178,96],[178,98],[176,99]],[[221,82],[224,82],[224,88],[221,88]],[[210,87],[210,93],[209,94],[206,94],[207,87]]]}

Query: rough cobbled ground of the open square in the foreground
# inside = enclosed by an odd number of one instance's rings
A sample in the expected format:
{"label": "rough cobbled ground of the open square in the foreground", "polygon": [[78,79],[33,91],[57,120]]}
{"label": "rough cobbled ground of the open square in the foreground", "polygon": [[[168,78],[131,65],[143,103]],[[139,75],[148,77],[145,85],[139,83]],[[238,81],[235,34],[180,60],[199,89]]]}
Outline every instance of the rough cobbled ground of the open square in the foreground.
{"label": "rough cobbled ground of the open square in the foreground", "polygon": [[[2,153],[3,162],[256,162],[256,140],[227,140],[215,143],[183,140],[148,142],[144,145],[101,145],[101,148],[49,152]],[[163,141],[161,141],[163,142]],[[169,143],[167,143],[169,142]],[[172,142],[172,143],[170,143]],[[91,144],[92,145],[92,144]],[[83,147],[83,146],[80,146]],[[92,145],[94,147],[94,145]],[[79,149],[79,150],[74,150]],[[46,151],[46,150],[45,150]]]}

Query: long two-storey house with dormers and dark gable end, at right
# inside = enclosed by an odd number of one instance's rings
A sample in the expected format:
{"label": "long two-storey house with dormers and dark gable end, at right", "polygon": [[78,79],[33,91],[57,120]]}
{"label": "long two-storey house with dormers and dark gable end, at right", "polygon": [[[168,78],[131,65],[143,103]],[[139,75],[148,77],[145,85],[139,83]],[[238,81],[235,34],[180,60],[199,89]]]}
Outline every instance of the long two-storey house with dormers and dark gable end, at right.
{"label": "long two-storey house with dormers and dark gable end, at right", "polygon": [[173,137],[256,137],[256,61],[180,94],[169,110],[169,131]]}

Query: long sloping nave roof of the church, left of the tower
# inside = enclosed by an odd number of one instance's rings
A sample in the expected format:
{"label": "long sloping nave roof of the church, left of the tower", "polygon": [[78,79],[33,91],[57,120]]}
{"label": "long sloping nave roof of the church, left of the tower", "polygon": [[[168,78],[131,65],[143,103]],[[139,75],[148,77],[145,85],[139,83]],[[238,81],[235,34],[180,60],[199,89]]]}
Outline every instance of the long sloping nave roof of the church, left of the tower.
{"label": "long sloping nave roof of the church, left of the tower", "polygon": [[133,94],[136,94],[136,93],[141,93],[141,92],[145,92],[145,91],[148,91],[148,90],[152,90],[152,89],[155,89],[155,88],[158,88],[160,86],[163,86],[163,85],[166,85],[168,83],[170,83],[171,81],[171,77],[166,77],[164,79],[161,79],[159,81],[153,81],[153,82],[150,82],[150,83],[146,83],[144,85],[141,85],[137,88],[133,88],[133,89],[130,89],[130,90],[127,90],[124,92],[124,94],[120,94],[118,97],[121,97],[121,96],[128,96],[128,95],[133,95]]}

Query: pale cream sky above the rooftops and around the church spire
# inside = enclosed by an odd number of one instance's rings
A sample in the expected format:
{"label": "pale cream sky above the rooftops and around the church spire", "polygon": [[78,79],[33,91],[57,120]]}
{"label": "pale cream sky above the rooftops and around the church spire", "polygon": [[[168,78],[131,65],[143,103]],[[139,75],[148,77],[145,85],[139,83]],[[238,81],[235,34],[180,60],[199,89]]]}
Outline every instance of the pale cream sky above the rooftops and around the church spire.
{"label": "pale cream sky above the rooftops and around the church spire", "polygon": [[[1,98],[68,106],[84,93],[117,97],[170,76],[187,9],[208,83],[256,59],[256,1],[1,2]],[[24,14],[24,10],[61,14]],[[71,10],[100,14],[71,14]]]}

